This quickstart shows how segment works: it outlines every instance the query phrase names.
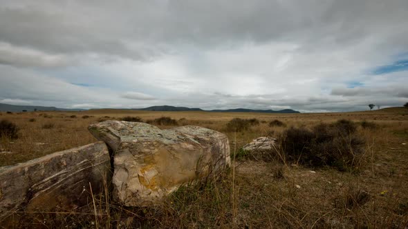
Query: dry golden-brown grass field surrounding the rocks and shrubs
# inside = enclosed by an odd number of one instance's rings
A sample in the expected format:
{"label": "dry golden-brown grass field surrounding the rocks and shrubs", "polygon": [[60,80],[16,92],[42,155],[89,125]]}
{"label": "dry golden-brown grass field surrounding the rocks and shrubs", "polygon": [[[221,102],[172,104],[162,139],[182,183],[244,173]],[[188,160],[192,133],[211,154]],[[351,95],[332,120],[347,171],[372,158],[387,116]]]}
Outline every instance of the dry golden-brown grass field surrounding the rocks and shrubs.
{"label": "dry golden-brown grass field surrounding the rocks and shrubs", "polygon": [[[40,214],[16,227],[37,228],[407,228],[408,109],[319,114],[219,112],[145,112],[89,110],[84,112],[0,113],[16,123],[17,139],[0,140],[0,166],[65,150],[95,139],[90,123],[140,117],[176,119],[228,135],[232,168],[220,177],[180,188],[158,208],[122,208],[99,201],[98,219],[89,215]],[[234,118],[257,119],[258,125],[234,131]],[[270,126],[278,119],[284,126]],[[279,137],[288,128],[313,129],[339,119],[355,122],[364,139],[361,163],[353,170],[307,166],[282,159],[243,157],[240,148],[261,136]],[[373,125],[363,128],[367,121]],[[173,126],[159,126],[171,128]],[[281,149],[283,150],[283,149]],[[280,151],[284,154],[284,151]],[[247,155],[248,156],[248,155]],[[48,218],[49,219],[48,219]],[[48,219],[48,221],[44,221]],[[1,226],[0,226],[1,227]]]}

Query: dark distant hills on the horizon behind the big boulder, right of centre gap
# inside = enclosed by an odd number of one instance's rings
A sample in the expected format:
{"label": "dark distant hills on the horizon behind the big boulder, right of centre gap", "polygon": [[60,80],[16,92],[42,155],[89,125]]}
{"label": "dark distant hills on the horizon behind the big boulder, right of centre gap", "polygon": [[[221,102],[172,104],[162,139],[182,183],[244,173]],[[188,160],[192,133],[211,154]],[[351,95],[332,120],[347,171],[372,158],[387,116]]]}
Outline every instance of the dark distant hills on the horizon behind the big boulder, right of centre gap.
{"label": "dark distant hills on the horizon behind the big boulder, right of centre gap", "polygon": [[252,110],[252,109],[228,109],[228,110],[202,110],[200,108],[185,108],[183,106],[151,106],[149,108],[135,108],[131,110],[150,110],[150,111],[209,111],[209,112],[259,112],[259,113],[300,113],[297,110]]}

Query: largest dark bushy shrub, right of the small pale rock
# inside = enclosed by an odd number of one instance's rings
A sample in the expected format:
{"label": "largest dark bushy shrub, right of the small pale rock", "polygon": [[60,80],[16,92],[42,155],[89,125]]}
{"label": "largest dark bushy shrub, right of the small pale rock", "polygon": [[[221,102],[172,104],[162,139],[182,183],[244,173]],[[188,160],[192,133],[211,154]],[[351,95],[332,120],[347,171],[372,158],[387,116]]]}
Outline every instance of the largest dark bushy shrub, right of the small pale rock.
{"label": "largest dark bushy shrub, right of the small pale rock", "polygon": [[357,169],[362,163],[364,139],[355,135],[356,125],[352,121],[321,123],[308,130],[289,128],[279,143],[285,158],[306,166],[332,166],[341,171]]}

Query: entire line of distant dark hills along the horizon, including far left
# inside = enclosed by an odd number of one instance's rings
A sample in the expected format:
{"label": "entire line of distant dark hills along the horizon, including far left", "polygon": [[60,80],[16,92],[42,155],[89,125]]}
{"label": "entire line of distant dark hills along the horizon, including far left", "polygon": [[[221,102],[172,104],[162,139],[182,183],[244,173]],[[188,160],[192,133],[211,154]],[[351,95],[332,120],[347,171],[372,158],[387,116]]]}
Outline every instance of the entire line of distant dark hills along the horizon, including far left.
{"label": "entire line of distant dark hills along the horizon, including far left", "polygon": [[[56,108],[53,106],[21,106],[0,103],[0,111],[10,112],[30,112],[30,111],[82,111],[85,109],[66,109]],[[93,109],[95,110],[95,109]],[[98,110],[98,109],[96,109]],[[300,113],[296,110],[251,110],[244,108],[228,109],[228,110],[202,110],[201,108],[186,108],[183,106],[151,106],[149,108],[133,108],[130,110],[149,110],[149,111],[207,111],[207,112],[259,112],[259,113]]]}

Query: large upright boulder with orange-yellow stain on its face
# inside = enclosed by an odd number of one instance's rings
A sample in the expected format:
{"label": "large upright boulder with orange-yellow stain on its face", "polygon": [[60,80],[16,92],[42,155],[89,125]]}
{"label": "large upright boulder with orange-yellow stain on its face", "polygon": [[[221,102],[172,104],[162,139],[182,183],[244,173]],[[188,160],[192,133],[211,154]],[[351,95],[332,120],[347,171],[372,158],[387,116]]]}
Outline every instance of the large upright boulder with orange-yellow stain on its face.
{"label": "large upright boulder with orange-yellow stain on its face", "polygon": [[228,138],[215,130],[160,130],[127,121],[103,121],[89,130],[113,149],[113,198],[125,206],[156,205],[181,184],[230,166]]}

